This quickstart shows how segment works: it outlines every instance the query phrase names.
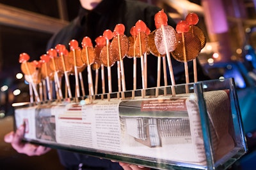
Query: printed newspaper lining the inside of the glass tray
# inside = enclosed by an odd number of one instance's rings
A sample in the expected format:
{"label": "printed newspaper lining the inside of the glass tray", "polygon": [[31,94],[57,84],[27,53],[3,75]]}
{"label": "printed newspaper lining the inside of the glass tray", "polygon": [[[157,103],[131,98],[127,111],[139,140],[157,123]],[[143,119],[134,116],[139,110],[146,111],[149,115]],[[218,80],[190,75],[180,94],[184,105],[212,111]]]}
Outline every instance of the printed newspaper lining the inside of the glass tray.
{"label": "printed newspaper lining the inside of the glass tray", "polygon": [[[235,147],[228,92],[204,92],[214,159]],[[52,103],[15,110],[28,141],[92,148],[101,153],[206,165],[195,94]]]}

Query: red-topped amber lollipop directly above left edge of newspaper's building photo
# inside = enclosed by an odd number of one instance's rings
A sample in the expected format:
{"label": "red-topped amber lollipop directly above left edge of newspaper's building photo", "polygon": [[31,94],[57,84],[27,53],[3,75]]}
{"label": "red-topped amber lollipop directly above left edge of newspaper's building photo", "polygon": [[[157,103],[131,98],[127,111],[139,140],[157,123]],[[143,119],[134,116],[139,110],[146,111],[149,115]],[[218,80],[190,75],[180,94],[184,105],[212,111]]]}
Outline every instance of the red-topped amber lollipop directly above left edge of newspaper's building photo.
{"label": "red-topped amber lollipop directly above left edge of newspaper's building photo", "polygon": [[121,73],[123,99],[124,99],[124,92],[126,91],[123,59],[129,50],[129,40],[127,36],[125,36],[124,31],[125,31],[124,24],[117,24],[115,26],[114,38],[111,41],[111,46],[110,46],[111,52],[113,52],[113,55],[116,56],[116,61],[118,63],[118,77],[119,77],[118,79],[119,80],[120,80],[120,73]]}

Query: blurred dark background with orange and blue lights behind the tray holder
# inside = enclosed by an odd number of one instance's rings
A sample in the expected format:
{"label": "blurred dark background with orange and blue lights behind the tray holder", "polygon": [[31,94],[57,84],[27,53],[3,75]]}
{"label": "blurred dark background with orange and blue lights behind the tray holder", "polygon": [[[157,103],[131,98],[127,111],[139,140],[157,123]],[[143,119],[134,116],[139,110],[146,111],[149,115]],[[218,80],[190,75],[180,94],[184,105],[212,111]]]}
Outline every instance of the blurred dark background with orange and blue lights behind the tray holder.
{"label": "blurred dark background with orange and blue lights behind the tray holder", "polygon": [[[142,1],[142,0],[141,0]],[[199,17],[207,38],[198,59],[212,79],[233,77],[249,152],[232,169],[256,169],[256,1],[144,0],[168,11],[179,22],[190,12]],[[13,103],[29,101],[28,84],[20,71],[19,54],[39,60],[45,45],[76,17],[79,1],[0,0],[0,169],[62,169],[56,152],[29,158],[3,141],[13,129]],[[147,24],[147,23],[146,23]],[[44,167],[45,166],[45,167]]]}

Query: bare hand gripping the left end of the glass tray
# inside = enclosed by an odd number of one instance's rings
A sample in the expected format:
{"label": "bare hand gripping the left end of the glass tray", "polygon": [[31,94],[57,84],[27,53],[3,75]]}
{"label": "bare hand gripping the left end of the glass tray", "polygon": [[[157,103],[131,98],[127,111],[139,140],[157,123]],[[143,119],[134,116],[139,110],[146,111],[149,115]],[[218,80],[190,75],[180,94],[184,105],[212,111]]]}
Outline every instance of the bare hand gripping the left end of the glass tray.
{"label": "bare hand gripping the left end of the glass tray", "polygon": [[51,148],[45,146],[33,145],[22,141],[24,136],[24,125],[21,125],[16,132],[10,132],[4,136],[6,143],[11,143],[12,147],[19,153],[24,153],[29,156],[39,156],[49,152]]}

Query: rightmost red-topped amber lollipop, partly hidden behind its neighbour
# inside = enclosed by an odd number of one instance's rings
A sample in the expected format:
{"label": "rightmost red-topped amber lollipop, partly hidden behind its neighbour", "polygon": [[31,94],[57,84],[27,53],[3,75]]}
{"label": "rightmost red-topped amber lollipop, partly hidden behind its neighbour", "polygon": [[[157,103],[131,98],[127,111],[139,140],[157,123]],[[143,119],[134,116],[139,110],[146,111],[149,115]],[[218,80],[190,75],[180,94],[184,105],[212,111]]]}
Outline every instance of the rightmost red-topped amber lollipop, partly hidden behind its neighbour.
{"label": "rightmost red-topped amber lollipop, partly hidden behind its neighbour", "polygon": [[[206,44],[206,37],[202,29],[196,26],[196,24],[199,21],[198,15],[196,15],[196,13],[189,13],[186,17],[186,21],[190,25],[189,32],[191,32],[191,34],[193,34],[194,36],[197,36],[197,38],[200,39],[201,50],[202,50],[202,48],[204,48]],[[193,69],[194,69],[194,81],[196,82],[197,81],[196,59],[193,59]]]}

